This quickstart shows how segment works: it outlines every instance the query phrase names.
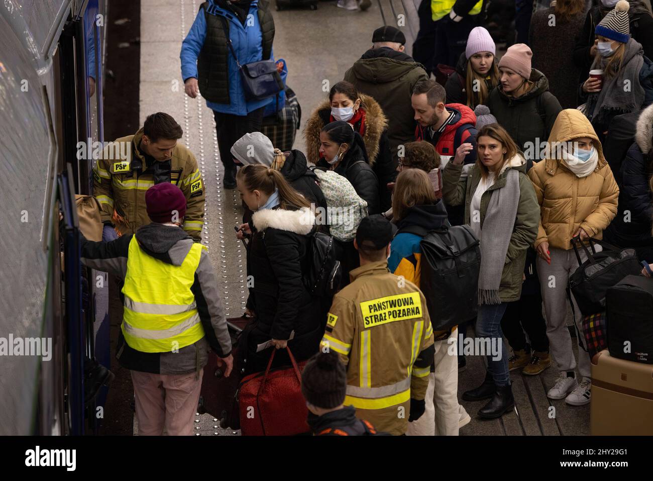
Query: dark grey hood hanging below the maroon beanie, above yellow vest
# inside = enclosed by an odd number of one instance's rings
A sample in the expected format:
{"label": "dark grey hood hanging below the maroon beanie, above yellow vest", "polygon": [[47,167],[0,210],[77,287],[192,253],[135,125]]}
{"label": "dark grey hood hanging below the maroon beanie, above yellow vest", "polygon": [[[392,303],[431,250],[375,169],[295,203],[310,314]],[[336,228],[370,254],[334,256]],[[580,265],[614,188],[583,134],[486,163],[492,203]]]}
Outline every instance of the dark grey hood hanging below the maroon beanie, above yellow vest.
{"label": "dark grey hood hanging below the maroon beanie, above yellow vest", "polygon": [[181,227],[156,222],[139,227],[136,240],[146,254],[172,265],[182,265],[193,246],[193,239]]}

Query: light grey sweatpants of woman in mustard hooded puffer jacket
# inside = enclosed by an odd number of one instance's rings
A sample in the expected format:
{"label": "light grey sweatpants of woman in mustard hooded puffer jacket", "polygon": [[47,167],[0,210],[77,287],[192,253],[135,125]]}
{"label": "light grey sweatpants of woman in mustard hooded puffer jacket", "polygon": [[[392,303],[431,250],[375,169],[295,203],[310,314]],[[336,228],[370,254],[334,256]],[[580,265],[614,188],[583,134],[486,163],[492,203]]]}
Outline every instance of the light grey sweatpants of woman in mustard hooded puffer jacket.
{"label": "light grey sweatpants of woman in mustard hooded puffer jacket", "polygon": [[[595,245],[594,248],[597,252],[601,251],[601,246]],[[547,314],[549,348],[554,361],[556,361],[558,371],[574,371],[576,369],[576,359],[573,356],[571,335],[569,335],[569,329],[567,329],[567,293],[565,290],[569,283],[569,276],[578,267],[578,259],[573,249],[550,248],[549,251],[550,265],[541,257],[537,257],[537,275],[542,290],[544,310]],[[587,256],[581,250],[581,261],[584,262],[586,259]],[[587,348],[582,335],[582,314],[573,295],[571,299],[578,327],[577,332],[581,333],[582,345]],[[592,373],[590,356],[581,348],[578,350],[578,370],[582,377],[590,377]]]}

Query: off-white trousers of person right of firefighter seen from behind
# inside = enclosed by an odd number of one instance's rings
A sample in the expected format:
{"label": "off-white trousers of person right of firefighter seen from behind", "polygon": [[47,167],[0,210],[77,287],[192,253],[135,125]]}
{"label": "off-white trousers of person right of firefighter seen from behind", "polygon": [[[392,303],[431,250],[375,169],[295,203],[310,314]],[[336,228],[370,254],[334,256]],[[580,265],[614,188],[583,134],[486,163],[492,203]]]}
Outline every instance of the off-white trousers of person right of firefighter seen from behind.
{"label": "off-white trousers of person right of firefighter seen from behind", "polygon": [[[435,373],[428,374],[426,410],[417,421],[408,423],[408,436],[458,436],[458,329],[448,339],[436,340]],[[451,343],[447,343],[452,339]],[[452,346],[453,344],[453,346]]]}

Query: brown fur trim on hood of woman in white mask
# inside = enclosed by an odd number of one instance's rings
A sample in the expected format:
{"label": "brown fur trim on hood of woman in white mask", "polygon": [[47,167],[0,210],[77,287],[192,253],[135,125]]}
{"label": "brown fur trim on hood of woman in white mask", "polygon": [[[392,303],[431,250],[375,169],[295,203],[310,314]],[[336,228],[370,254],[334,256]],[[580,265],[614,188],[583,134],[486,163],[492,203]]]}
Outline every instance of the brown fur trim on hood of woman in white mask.
{"label": "brown fur trim on hood of woman in white mask", "polygon": [[[377,155],[379,154],[379,141],[381,135],[388,127],[388,119],[383,113],[383,109],[369,95],[360,94],[360,100],[365,106],[365,149],[367,150],[370,165],[374,165]],[[320,103],[306,122],[304,128],[304,139],[306,141],[306,158],[309,162],[317,163],[320,158],[320,132],[327,125],[328,118],[331,114],[331,104],[328,99]],[[327,122],[325,122],[325,119]]]}

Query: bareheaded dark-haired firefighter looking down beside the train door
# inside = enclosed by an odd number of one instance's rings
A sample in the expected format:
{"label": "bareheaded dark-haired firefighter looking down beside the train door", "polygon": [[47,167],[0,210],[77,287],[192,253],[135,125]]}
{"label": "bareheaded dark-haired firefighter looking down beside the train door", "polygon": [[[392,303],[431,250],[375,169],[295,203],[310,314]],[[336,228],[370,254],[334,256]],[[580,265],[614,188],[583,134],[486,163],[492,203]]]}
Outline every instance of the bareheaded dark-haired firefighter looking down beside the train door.
{"label": "bareheaded dark-haired firefighter looking down beside the train door", "polygon": [[123,235],[150,224],[145,193],[155,184],[170,182],[186,197],[183,230],[196,242],[202,240],[204,184],[195,156],[177,143],[182,134],[172,116],[158,112],[146,118],[136,135],[116,139],[104,148],[93,168],[93,193],[102,207],[105,226],[112,225]]}

